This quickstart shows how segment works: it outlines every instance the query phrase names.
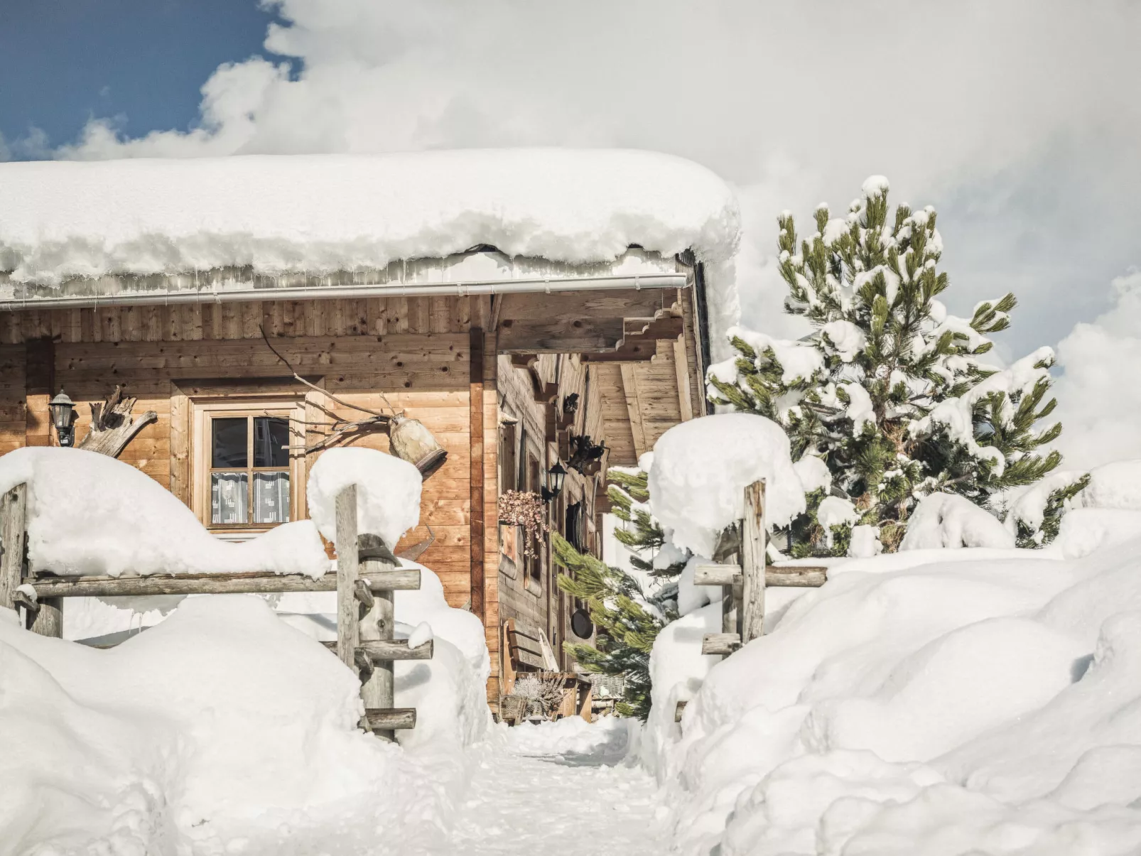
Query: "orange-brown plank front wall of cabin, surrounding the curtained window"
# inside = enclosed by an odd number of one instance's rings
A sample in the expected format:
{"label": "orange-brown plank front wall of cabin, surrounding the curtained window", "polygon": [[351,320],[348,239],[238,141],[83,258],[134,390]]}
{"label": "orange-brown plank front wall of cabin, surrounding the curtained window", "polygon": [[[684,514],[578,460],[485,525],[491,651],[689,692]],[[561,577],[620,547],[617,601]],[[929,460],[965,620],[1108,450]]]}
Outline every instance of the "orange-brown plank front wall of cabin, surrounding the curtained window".
{"label": "orange-brown plank front wall of cabin, surrounding the curtained window", "polygon": [[[269,382],[298,397],[305,394],[300,385],[289,386],[289,372],[261,340],[264,328],[306,378],[351,404],[405,410],[447,450],[447,462],[424,482],[420,526],[399,547],[427,538],[431,526],[436,540],[420,562],[439,575],[452,606],[482,605],[494,669],[499,648],[495,443],[484,443],[480,463],[471,430],[472,420],[479,420],[484,436],[494,439],[497,426],[494,340],[475,361],[471,354],[471,329],[486,326],[488,320],[489,301],[477,297],[2,313],[0,452],[54,442],[47,401],[59,386],[79,405],[76,436],[82,437],[90,422],[87,403],[102,401],[122,383],[138,397],[135,412],[153,410],[159,420],[140,431],[121,460],[185,501],[188,395],[210,386],[204,381],[226,379],[251,379],[248,390]],[[42,364],[44,355],[49,364]],[[242,388],[234,387],[234,394]],[[313,405],[319,397],[306,396],[307,419],[317,415]],[[326,404],[338,415],[359,415]],[[365,435],[353,445],[387,451],[388,437]],[[482,485],[474,478],[480,470]],[[474,499],[480,508],[472,508]],[[484,559],[483,568],[474,562],[477,556]],[[482,598],[472,598],[475,580],[483,581]],[[489,694],[494,686],[497,695],[496,675]]]}

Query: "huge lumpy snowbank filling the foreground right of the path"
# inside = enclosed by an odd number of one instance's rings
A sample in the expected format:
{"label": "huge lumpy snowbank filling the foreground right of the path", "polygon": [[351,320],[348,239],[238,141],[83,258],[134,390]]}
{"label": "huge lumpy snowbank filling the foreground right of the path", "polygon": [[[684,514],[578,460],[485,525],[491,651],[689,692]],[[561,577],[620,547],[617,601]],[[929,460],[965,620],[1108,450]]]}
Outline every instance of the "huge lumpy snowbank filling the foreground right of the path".
{"label": "huge lumpy snowbank filling the foreground right of the path", "polygon": [[1141,851],[1135,549],[942,556],[843,563],[696,692],[655,683],[693,696],[642,742],[678,853]]}

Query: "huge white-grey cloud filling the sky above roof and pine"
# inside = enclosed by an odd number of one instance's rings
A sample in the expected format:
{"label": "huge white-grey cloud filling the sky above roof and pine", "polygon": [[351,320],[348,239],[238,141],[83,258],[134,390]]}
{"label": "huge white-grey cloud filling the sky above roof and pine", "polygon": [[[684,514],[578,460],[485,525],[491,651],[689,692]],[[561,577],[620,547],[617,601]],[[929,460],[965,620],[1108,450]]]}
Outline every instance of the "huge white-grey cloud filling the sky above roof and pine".
{"label": "huge white-grey cloud filling the sky above roof and pine", "polygon": [[[252,1],[252,0],[249,0]],[[746,318],[777,334],[775,217],[865,176],[940,209],[950,308],[1013,289],[1018,356],[1138,264],[1141,5],[1130,0],[266,0],[262,58],[220,66],[188,131],[94,121],[62,156],[656,148],[741,189]]]}

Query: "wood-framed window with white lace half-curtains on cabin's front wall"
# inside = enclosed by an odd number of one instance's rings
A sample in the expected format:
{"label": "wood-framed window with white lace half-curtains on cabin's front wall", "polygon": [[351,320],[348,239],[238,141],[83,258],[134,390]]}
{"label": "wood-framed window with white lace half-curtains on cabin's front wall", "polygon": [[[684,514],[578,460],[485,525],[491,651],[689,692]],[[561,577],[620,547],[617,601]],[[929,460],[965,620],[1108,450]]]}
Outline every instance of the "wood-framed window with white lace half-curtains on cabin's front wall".
{"label": "wood-framed window with white lace half-curtains on cabin's front wall", "polygon": [[302,414],[292,402],[195,402],[192,504],[207,527],[236,534],[305,517],[305,461],[288,449]]}

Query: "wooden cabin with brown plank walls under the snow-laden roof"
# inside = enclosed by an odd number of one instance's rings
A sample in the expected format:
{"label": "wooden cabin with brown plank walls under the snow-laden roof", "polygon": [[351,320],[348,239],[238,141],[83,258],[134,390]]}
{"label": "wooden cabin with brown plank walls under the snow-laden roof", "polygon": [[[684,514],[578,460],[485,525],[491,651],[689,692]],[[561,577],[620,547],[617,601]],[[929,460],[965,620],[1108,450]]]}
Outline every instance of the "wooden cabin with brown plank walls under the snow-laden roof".
{"label": "wooden cabin with brown plank walls under the snow-laden roof", "polygon": [[[314,273],[302,259],[272,272],[155,272],[145,259],[91,274],[63,265],[37,280],[21,267],[34,248],[21,257],[5,235],[6,179],[21,167],[0,165],[0,452],[58,443],[48,403],[60,389],[76,403],[82,437],[88,405],[121,385],[137,397],[136,414],[157,418],[120,459],[219,538],[242,539],[305,516],[306,474],[319,454],[306,447],[331,420],[358,419],[351,405],[404,411],[447,458],[424,481],[420,526],[396,550],[430,539],[419,562],[439,575],[451,605],[483,620],[489,703],[508,619],[541,628],[560,668],[572,668],[561,644],[580,638],[576,605],[555,584],[548,540],[526,555],[516,528],[499,525],[497,499],[540,492],[561,461],[568,475],[545,506],[548,522],[601,554],[606,467],[636,463],[667,428],[706,409],[704,268],[694,253],[631,247],[569,264],[508,255],[489,229],[463,252],[375,267]],[[49,184],[52,167],[68,171],[62,181],[74,175],[74,164],[35,167]],[[203,168],[200,178],[210,176]],[[108,219],[145,221],[130,208],[139,186],[105,193]],[[38,216],[50,221],[51,209]],[[203,224],[217,216],[203,211]],[[339,442],[387,451],[389,438],[365,430]]]}

